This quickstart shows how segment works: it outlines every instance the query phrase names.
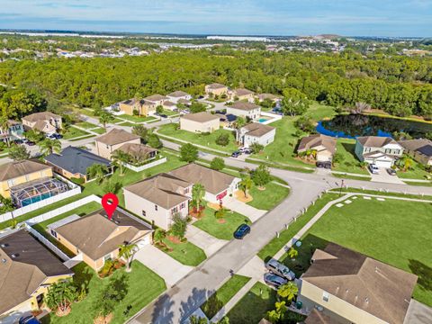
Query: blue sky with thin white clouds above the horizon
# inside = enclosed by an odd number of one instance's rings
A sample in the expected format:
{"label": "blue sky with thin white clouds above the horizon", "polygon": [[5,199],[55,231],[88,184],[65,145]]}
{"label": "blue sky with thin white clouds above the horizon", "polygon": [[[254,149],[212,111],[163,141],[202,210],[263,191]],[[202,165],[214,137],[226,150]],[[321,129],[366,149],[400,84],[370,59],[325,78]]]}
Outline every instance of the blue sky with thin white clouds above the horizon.
{"label": "blue sky with thin white clouds above the horizon", "polygon": [[432,0],[0,0],[1,29],[432,36]]}

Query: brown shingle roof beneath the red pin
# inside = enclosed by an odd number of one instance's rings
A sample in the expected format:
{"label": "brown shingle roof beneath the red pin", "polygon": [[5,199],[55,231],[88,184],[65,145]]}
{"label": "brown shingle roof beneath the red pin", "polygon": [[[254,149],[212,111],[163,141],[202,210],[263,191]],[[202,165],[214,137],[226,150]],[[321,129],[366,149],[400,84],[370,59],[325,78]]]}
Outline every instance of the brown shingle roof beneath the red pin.
{"label": "brown shingle roof beneath the red pin", "polygon": [[142,238],[151,227],[117,210],[111,220],[108,220],[105,211],[98,211],[55,230],[86,256],[97,260],[125,242]]}

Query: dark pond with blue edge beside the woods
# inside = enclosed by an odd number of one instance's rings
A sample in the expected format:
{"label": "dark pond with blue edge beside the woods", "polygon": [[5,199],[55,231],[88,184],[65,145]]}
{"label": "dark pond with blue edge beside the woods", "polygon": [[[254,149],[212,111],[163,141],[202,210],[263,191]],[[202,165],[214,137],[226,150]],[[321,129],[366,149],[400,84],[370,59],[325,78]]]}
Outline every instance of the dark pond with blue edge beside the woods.
{"label": "dark pond with blue edge beside the woods", "polygon": [[319,121],[316,130],[323,135],[346,139],[355,139],[357,136],[391,137],[394,131],[404,131],[413,139],[419,139],[432,132],[432,124],[364,114],[344,114],[329,121]]}

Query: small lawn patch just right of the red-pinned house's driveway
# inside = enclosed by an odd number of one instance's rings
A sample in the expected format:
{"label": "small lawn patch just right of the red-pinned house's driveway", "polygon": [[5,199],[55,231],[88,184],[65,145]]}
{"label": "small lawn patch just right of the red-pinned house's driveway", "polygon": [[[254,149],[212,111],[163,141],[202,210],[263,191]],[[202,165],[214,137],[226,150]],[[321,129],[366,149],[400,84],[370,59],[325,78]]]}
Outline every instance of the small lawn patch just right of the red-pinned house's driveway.
{"label": "small lawn patch just right of the red-pinned house's driveway", "polygon": [[172,251],[166,251],[163,248],[161,250],[185,266],[198,266],[207,258],[204,251],[191,242],[175,244],[168,238],[164,238],[163,242]]}

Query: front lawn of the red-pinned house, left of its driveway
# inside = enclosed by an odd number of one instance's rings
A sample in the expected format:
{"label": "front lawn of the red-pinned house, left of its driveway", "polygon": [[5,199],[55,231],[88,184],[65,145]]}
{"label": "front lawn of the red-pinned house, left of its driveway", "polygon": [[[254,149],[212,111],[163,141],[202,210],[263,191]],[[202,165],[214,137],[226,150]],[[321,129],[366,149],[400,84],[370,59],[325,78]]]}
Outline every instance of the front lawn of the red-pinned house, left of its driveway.
{"label": "front lawn of the red-pinned house, left of its driveway", "polygon": [[[100,298],[103,284],[108,283],[112,277],[117,278],[124,275],[125,282],[128,284],[126,297],[121,302],[116,303],[111,321],[112,324],[124,323],[166,290],[164,280],[136,260],[133,261],[132,271],[129,274],[125,273],[124,270],[117,270],[112,276],[104,279],[100,279],[94,271],[84,263],[75,266],[73,270],[75,272],[74,281],[76,284],[85,284],[87,286],[88,293],[85,300],[74,303],[72,305],[72,311],[66,317],[58,318],[54,313],[49,313],[49,315],[42,318],[42,323],[93,323],[94,304],[97,303]],[[128,311],[128,308],[130,308],[130,311]]]}

